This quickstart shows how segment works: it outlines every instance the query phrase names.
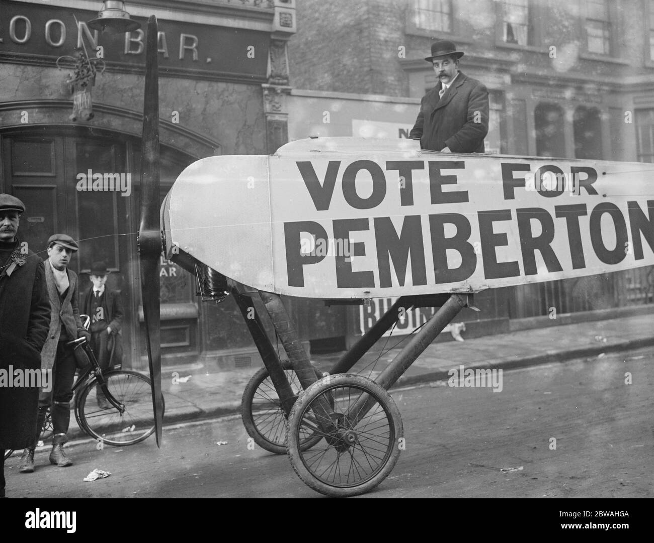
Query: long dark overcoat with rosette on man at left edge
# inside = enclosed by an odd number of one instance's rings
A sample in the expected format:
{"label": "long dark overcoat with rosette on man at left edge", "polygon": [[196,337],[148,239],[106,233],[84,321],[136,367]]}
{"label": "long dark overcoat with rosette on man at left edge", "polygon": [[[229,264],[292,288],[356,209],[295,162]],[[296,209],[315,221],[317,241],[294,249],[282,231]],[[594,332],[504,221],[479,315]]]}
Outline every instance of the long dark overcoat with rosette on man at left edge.
{"label": "long dark overcoat with rosette on man at left edge", "polygon": [[[49,324],[43,262],[29,251],[25,264],[0,278],[0,369],[39,369]],[[38,406],[39,387],[0,387],[0,448],[33,442]]]}

